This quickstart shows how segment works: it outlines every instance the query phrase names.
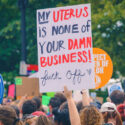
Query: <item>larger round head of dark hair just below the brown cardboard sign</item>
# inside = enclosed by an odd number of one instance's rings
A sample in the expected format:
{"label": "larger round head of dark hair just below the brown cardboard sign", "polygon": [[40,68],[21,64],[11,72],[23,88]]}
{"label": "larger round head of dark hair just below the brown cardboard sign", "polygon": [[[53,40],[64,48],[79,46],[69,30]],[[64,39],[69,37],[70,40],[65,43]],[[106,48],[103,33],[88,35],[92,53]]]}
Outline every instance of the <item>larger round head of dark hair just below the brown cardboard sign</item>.
{"label": "larger round head of dark hair just below the brown cardboard sign", "polygon": [[36,103],[33,100],[27,100],[24,102],[22,107],[22,113],[25,114],[31,114],[37,110]]}

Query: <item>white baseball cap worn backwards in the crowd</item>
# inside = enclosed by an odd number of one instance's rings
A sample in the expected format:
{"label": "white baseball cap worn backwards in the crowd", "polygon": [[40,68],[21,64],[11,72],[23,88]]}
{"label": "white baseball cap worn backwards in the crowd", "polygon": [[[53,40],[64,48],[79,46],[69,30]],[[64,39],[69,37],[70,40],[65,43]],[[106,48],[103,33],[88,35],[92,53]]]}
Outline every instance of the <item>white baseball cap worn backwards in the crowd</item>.
{"label": "white baseball cap worn backwards in the crowd", "polygon": [[115,104],[111,102],[106,102],[101,106],[100,112],[114,112],[117,111]]}

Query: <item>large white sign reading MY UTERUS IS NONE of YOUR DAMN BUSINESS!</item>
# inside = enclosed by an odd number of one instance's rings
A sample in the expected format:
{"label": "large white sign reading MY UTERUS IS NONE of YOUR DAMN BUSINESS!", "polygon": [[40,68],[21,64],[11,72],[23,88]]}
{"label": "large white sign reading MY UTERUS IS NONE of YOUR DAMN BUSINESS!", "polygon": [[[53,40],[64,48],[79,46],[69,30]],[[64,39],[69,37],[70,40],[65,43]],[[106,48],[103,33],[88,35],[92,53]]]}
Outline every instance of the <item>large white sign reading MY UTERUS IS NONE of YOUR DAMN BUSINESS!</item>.
{"label": "large white sign reading MY UTERUS IS NONE of YOUR DAMN BUSINESS!", "polygon": [[37,10],[40,92],[95,87],[90,4]]}

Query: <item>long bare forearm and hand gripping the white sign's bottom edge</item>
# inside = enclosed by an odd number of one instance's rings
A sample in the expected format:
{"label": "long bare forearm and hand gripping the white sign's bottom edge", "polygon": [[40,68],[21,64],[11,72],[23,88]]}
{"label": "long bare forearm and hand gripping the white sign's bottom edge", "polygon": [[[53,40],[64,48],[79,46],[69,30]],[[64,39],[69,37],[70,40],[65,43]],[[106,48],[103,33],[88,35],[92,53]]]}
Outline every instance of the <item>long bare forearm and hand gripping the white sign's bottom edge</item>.
{"label": "long bare forearm and hand gripping the white sign's bottom edge", "polygon": [[72,92],[64,86],[64,94],[67,98],[71,125],[81,125],[79,113],[72,98]]}

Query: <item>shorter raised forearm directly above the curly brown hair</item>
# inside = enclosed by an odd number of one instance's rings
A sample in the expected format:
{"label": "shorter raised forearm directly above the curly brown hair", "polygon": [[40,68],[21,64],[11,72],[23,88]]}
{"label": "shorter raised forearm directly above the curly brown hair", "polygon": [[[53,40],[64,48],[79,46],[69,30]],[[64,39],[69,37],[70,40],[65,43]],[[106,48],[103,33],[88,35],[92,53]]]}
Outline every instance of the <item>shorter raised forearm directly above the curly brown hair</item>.
{"label": "shorter raised forearm directly above the curly brown hair", "polygon": [[89,94],[88,94],[87,89],[82,90],[82,104],[83,104],[83,106],[89,106],[90,105],[90,98],[89,98]]}

